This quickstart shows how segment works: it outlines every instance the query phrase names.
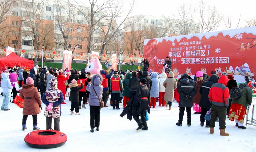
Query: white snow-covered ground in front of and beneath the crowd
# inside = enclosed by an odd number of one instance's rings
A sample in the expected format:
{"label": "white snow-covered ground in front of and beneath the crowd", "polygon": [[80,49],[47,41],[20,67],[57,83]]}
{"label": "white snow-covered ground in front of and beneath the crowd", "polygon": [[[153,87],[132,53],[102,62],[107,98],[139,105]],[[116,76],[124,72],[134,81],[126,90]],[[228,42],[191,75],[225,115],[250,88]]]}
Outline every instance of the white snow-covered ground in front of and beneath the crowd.
{"label": "white snow-covered ground in front of and beneath the crowd", "polygon": [[[0,96],[1,105],[2,100],[3,97]],[[112,110],[112,107],[102,108],[100,131],[91,133],[89,106],[86,105],[87,109],[80,110],[81,115],[70,115],[71,103],[67,100],[65,102],[67,104],[62,105],[60,130],[67,135],[68,140],[62,147],[50,151],[256,152],[256,126],[248,125],[247,129],[239,130],[234,126],[234,122],[227,119],[226,132],[230,134],[229,137],[219,136],[218,122],[215,133],[210,135],[209,128],[200,126],[200,115],[192,113],[191,127],[187,126],[186,114],[183,118],[183,126],[179,127],[176,126],[179,117],[177,103],[173,103],[172,110],[158,107],[157,103],[156,108],[151,109],[150,120],[147,121],[149,130],[139,132],[136,132],[137,124],[134,120],[130,121],[126,117],[119,116],[122,108],[121,110]],[[27,119],[28,129],[22,131],[22,108],[14,103],[10,103],[9,108],[10,111],[0,111],[0,152],[49,151],[49,149],[30,148],[25,144],[24,137],[33,131],[32,116]],[[38,127],[46,129],[46,120],[42,111],[38,114]]]}

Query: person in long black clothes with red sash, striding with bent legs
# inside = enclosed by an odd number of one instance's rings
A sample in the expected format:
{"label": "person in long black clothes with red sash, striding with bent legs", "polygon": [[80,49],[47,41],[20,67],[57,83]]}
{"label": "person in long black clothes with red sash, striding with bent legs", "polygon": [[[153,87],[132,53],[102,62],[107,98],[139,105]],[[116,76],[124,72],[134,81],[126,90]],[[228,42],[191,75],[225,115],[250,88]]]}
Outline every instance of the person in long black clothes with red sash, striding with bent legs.
{"label": "person in long black clothes with red sash, striding with bent legs", "polygon": [[[148,130],[147,121],[146,121],[146,111],[149,111],[149,98],[150,98],[150,90],[146,86],[146,79],[142,78],[140,80],[141,86],[138,91],[131,98],[131,101],[128,102],[128,106],[131,106],[131,113],[133,115],[133,119],[137,122],[138,128],[143,130]],[[141,119],[139,118],[141,117]]]}

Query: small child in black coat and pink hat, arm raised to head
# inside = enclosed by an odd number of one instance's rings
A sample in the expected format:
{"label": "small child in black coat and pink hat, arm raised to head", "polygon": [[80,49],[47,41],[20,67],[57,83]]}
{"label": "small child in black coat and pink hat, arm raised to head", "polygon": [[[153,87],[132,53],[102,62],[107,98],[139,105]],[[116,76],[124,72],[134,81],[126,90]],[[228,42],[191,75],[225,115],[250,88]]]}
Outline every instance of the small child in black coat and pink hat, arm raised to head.
{"label": "small child in black coat and pink hat, arm raised to head", "polygon": [[71,101],[71,108],[70,108],[70,114],[74,114],[75,109],[75,115],[80,115],[79,113],[79,90],[83,89],[82,80],[79,82],[81,86],[79,87],[77,84],[77,81],[73,79],[70,84],[70,101]]}

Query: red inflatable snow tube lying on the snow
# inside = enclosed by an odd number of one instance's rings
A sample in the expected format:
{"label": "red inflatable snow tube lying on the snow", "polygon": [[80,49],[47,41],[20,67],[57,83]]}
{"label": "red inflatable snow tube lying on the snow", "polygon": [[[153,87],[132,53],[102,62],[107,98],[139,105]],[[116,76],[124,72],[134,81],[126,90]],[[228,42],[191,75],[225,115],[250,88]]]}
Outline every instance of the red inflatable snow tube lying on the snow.
{"label": "red inflatable snow tube lying on the snow", "polygon": [[36,130],[28,133],[24,141],[33,148],[55,148],[64,145],[67,136],[56,130]]}

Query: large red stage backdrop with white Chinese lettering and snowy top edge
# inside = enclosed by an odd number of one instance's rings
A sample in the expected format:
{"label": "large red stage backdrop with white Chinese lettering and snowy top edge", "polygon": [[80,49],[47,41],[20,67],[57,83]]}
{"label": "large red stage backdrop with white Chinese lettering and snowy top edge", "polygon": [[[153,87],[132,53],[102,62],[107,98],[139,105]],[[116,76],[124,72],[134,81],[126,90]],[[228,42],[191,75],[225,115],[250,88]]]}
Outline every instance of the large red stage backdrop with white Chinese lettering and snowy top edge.
{"label": "large red stage backdrop with white Chinese lettering and snowy top edge", "polygon": [[244,76],[254,76],[256,58],[256,26],[235,30],[190,34],[144,41],[144,57],[149,69],[163,72],[163,64],[169,56],[175,77],[203,71],[211,75],[217,70],[234,74],[243,81]]}

